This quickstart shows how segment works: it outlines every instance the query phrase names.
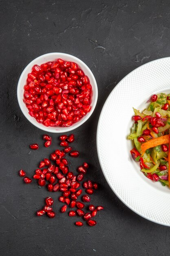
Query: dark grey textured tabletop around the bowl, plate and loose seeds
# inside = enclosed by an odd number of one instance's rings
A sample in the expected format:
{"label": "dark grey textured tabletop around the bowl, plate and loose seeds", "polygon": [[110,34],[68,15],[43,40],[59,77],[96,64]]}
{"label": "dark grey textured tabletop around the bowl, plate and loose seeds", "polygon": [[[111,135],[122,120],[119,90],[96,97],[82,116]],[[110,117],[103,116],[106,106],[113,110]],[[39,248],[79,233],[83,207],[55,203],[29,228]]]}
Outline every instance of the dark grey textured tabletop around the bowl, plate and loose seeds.
{"label": "dark grey textured tabletop around the bowl, plate and loose seeds", "polygon": [[[170,2],[131,1],[0,1],[0,254],[52,256],[168,255],[170,228],[141,218],[109,188],[99,166],[96,131],[102,106],[114,86],[136,67],[170,56]],[[48,52],[65,52],[82,59],[95,75],[99,97],[92,117],[74,133],[87,177],[99,183],[94,204],[105,207],[95,227],[75,227],[75,218],[35,216],[50,195],[45,188],[23,184],[18,170],[31,176],[38,162],[53,149],[29,154],[29,144],[43,145],[44,133],[22,115],[16,89],[24,67]],[[118,101],[119,102],[119,101]],[[118,103],[119,107],[119,103]],[[116,145],[113,145],[114,150]],[[113,161],[113,168],[119,163]],[[150,196],[150,195],[148,195]],[[167,202],[169,203],[169,202]],[[166,207],[166,205],[165,205]],[[77,218],[76,218],[77,219]]]}

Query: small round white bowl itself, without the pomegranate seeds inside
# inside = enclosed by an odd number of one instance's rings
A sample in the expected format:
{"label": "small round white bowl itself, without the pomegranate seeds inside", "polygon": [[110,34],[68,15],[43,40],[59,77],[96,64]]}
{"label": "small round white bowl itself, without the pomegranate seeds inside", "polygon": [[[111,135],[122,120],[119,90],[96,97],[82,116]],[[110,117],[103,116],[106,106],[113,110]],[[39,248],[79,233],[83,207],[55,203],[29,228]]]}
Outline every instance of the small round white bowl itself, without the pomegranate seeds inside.
{"label": "small round white bowl itself, without the pomegranate seeds inside", "polygon": [[[91,86],[92,86],[92,99],[91,99],[91,111],[87,113],[84,117],[82,117],[77,123],[73,124],[69,127],[46,127],[43,124],[39,124],[38,121],[34,117],[31,117],[29,115],[29,111],[26,108],[25,103],[23,102],[23,94],[24,94],[24,85],[26,85],[26,79],[28,74],[32,71],[32,67],[35,64],[41,65],[42,63],[46,63],[48,61],[54,61],[57,58],[62,58],[65,61],[73,61],[79,65],[79,67],[83,70],[84,74],[86,74],[90,80]],[[93,113],[96,103],[97,103],[97,83],[95,80],[95,77],[93,76],[93,73],[89,69],[89,67],[81,61],[79,58],[76,58],[75,56],[72,56],[70,54],[60,53],[60,52],[52,52],[47,53],[42,56],[39,56],[38,58],[35,58],[33,61],[31,61],[23,70],[20,79],[18,81],[18,88],[17,88],[17,97],[18,97],[18,103],[20,105],[20,108],[22,110],[22,113],[24,116],[33,124],[34,126],[40,128],[41,130],[47,131],[47,132],[68,132],[71,130],[74,130],[75,128],[81,126]]]}

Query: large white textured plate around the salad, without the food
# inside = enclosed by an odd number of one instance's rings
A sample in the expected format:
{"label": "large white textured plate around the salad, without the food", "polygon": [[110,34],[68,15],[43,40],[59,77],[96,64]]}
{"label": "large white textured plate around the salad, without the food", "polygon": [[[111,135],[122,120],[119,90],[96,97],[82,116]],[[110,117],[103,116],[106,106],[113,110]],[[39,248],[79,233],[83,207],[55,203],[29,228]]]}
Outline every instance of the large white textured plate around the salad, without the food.
{"label": "large white textured plate around the salad, without the food", "polygon": [[97,128],[97,152],[108,184],[132,211],[153,222],[170,226],[170,189],[140,171],[127,135],[132,107],[144,109],[152,94],[170,93],[170,57],[152,61],[128,74],[110,93]]}

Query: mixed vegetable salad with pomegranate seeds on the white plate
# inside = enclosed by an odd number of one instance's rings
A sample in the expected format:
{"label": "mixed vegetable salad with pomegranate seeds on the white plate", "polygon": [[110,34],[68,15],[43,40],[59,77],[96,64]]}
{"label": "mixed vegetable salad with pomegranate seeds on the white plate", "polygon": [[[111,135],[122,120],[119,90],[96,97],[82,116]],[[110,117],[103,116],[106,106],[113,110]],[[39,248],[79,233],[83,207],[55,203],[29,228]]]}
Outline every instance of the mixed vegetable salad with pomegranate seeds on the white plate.
{"label": "mixed vegetable salad with pomegranate seeds on the white plate", "polygon": [[133,108],[130,153],[147,178],[170,186],[170,94],[154,94],[147,103],[143,112]]}

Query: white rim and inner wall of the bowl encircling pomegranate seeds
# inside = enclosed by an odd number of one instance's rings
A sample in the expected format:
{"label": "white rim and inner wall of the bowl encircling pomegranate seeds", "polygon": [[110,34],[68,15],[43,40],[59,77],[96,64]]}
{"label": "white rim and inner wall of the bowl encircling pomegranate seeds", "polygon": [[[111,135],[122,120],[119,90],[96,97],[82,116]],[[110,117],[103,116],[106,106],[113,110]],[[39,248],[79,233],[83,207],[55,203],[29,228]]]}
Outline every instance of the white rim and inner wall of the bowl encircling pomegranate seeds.
{"label": "white rim and inner wall of the bowl encircling pomegranate seeds", "polygon": [[[76,61],[80,62],[82,64],[82,66],[84,66],[88,72],[91,73],[91,76],[92,76],[92,79],[93,79],[93,83],[94,83],[94,87],[95,87],[95,99],[94,99],[94,103],[93,103],[93,106],[91,108],[91,111],[85,115],[84,117],[82,117],[82,119],[80,121],[78,121],[77,123],[74,124],[74,126],[69,126],[67,128],[63,127],[63,130],[53,130],[51,126],[40,126],[40,124],[34,120],[34,119],[28,119],[27,116],[26,116],[26,113],[25,113],[25,110],[22,108],[22,104],[21,104],[21,101],[23,99],[21,99],[20,97],[20,89],[22,88],[22,84],[21,84],[21,80],[22,80],[22,77],[24,76],[26,70],[31,67],[32,65],[35,65],[35,61],[43,58],[43,57],[46,57],[46,56],[53,56],[53,55],[63,55],[63,57],[71,57]],[[57,57],[56,57],[57,58]],[[24,86],[24,85],[23,85]],[[43,55],[40,55],[38,56],[37,58],[33,59],[28,65],[26,65],[26,67],[24,68],[24,70],[22,71],[21,75],[20,75],[20,78],[19,78],[19,81],[18,81],[18,86],[17,86],[17,98],[18,98],[18,103],[19,103],[19,106],[20,106],[20,109],[22,111],[22,113],[24,114],[24,116],[26,117],[26,119],[28,121],[30,121],[31,124],[33,124],[34,126],[36,126],[37,128],[41,129],[41,130],[44,130],[46,132],[53,132],[53,133],[62,133],[62,132],[68,132],[68,131],[71,131],[71,130],[74,130],[76,128],[78,128],[79,126],[81,126],[82,124],[84,124],[88,119],[89,117],[91,117],[93,111],[95,110],[95,106],[96,106],[96,103],[97,103],[97,98],[98,98],[98,89],[97,89],[97,83],[96,83],[96,80],[95,80],[95,76],[93,75],[92,71],[90,70],[90,68],[82,61],[80,60],[79,58],[71,55],[71,54],[66,54],[66,53],[62,53],[62,52],[50,52],[50,53],[47,53],[47,54],[43,54]],[[61,127],[60,127],[61,128]]]}

